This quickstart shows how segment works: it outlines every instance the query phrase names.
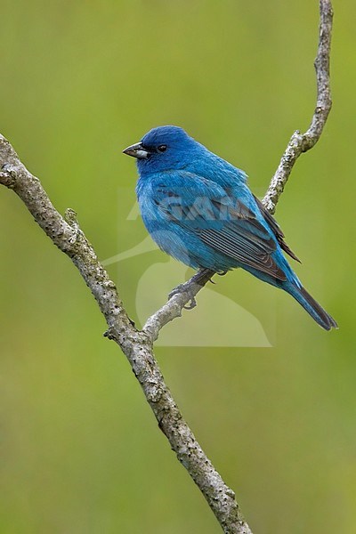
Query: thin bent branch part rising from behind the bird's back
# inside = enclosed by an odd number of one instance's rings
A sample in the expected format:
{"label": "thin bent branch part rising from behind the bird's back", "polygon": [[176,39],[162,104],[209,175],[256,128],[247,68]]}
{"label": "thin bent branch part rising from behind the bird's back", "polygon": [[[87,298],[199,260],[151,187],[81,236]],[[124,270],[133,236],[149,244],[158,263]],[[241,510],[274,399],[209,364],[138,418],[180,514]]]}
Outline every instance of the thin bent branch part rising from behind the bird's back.
{"label": "thin bent branch part rising from behind the bird's back", "polygon": [[287,149],[280,159],[279,167],[271,179],[271,184],[264,195],[263,205],[274,214],[284,187],[299,156],[311,150],[319,141],[331,109],[329,78],[331,29],[333,25],[333,7],[330,0],[320,0],[319,47],[314,67],[317,75],[317,105],[312,116],[312,124],[305,134],[298,130],[290,138]]}

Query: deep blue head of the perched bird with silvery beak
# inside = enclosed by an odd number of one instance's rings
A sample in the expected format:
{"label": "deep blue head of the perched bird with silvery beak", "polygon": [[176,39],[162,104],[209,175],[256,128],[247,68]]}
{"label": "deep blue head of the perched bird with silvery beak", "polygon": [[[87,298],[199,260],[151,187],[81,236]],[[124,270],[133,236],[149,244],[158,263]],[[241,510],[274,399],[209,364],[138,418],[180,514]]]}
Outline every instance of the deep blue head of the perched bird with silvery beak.
{"label": "deep blue head of the perched bird with silvery beak", "polygon": [[143,135],[140,142],[127,147],[124,154],[137,158],[140,174],[182,169],[202,148],[178,126],[158,126]]}

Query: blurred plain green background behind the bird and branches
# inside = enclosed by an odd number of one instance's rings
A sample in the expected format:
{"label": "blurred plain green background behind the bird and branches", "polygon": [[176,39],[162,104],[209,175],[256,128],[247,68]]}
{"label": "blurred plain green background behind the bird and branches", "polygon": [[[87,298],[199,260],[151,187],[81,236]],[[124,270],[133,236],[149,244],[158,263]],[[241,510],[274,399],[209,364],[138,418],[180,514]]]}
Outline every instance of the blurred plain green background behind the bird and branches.
{"label": "blurred plain green background behind the bird and branches", "polygon": [[[121,150],[150,127],[182,125],[263,195],[290,134],[309,125],[316,0],[1,4],[0,131],[54,205],[77,210],[101,258],[146,236],[126,221],[136,172]],[[334,107],[277,218],[340,329],[236,271],[215,291],[273,323],[274,346],[157,350],[256,533],[354,531],[356,9],[334,7]],[[0,210],[0,531],[219,532],[69,259],[12,191],[0,190]],[[166,262],[157,250],[109,266],[134,319],[138,280],[152,263],[169,279]]]}

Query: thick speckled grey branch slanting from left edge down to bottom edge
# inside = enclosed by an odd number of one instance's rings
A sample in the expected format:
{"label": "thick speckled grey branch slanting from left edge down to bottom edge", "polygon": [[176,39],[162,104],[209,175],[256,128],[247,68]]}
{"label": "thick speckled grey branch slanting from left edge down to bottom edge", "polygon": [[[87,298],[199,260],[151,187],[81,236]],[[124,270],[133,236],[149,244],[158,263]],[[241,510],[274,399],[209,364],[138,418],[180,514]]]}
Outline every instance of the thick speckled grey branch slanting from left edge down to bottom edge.
{"label": "thick speckled grey branch slanting from left edge down to bottom edge", "polygon": [[[251,534],[247,522],[239,511],[234,492],[225,484],[206,457],[166,386],[153,355],[151,337],[157,335],[154,321],[152,320],[151,326],[147,327],[150,336],[134,328],[117,294],[115,284],[109,279],[93,247],[80,230],[76,213],[67,210],[66,218],[58,213],[39,180],[28,172],[11,144],[2,135],[0,135],[0,167],[2,168],[0,183],[14,190],[23,200],[36,223],[53,243],[69,256],[85,279],[108,323],[105,336],[113,339],[125,353],[158,420],[159,428],[165,433],[181,464],[198,485],[223,530],[231,534]],[[200,282],[205,283],[207,279],[209,279],[208,273],[200,279]],[[198,281],[199,278],[195,279],[197,287],[190,287],[187,299],[180,295],[173,296],[170,301],[173,308],[178,304],[183,307],[193,298],[194,291],[198,291],[198,287],[201,287]],[[174,312],[177,312],[176,307]],[[161,311],[159,318],[162,324],[170,320],[165,316],[164,310]]]}

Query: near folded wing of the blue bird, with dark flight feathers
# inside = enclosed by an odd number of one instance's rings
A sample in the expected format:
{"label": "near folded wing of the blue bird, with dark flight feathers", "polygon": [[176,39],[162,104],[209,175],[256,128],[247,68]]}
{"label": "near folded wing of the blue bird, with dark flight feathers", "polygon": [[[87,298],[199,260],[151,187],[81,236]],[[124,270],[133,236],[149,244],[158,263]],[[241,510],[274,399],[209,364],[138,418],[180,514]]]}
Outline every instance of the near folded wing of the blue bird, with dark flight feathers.
{"label": "near folded wing of the blue bird, with dark flight feathers", "polygon": [[231,198],[215,182],[183,171],[174,172],[171,178],[167,173],[154,190],[157,208],[169,221],[198,235],[208,247],[241,266],[253,267],[274,279],[287,279],[272,257],[277,249],[275,232],[258,220],[257,210],[254,213],[247,202]]}

